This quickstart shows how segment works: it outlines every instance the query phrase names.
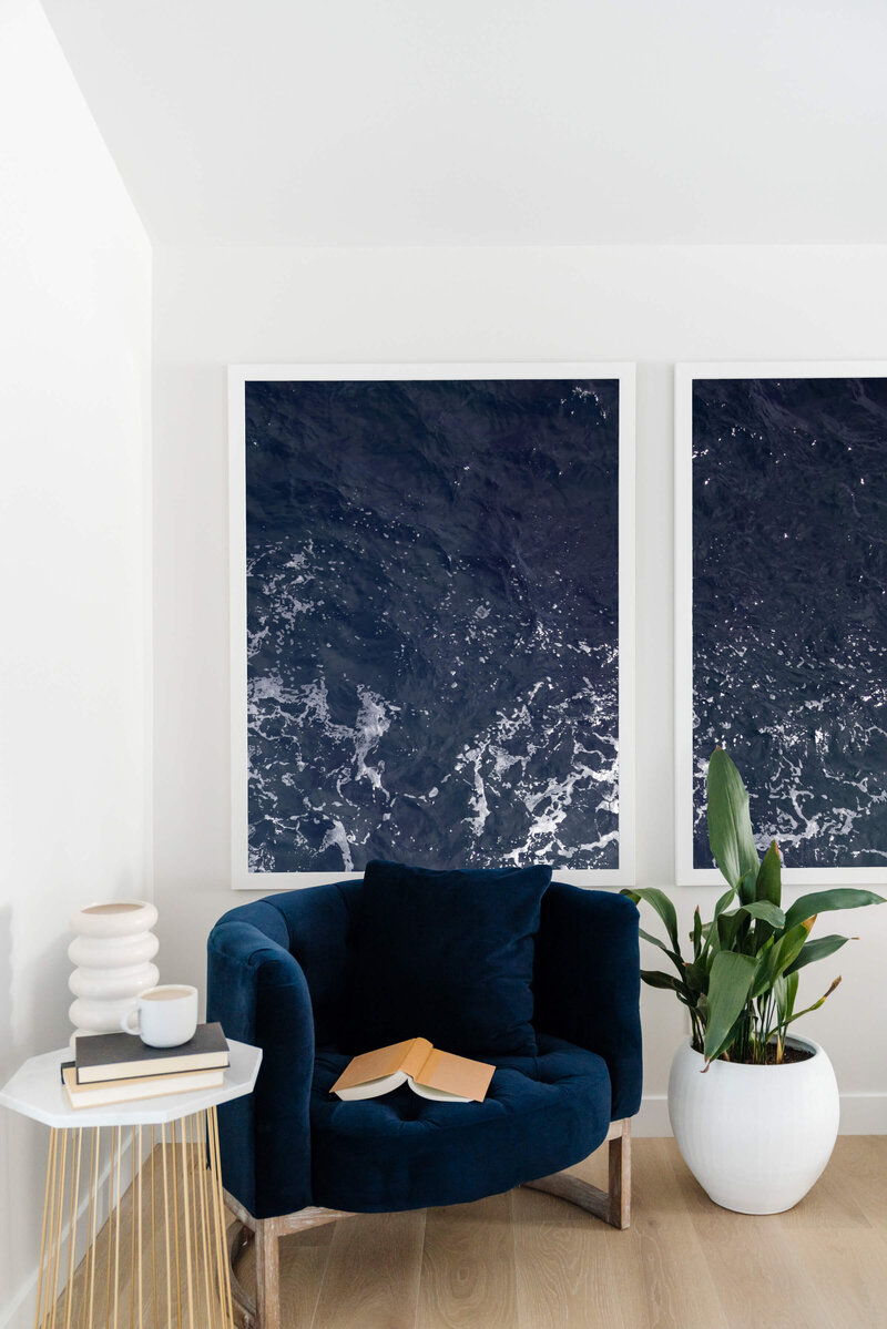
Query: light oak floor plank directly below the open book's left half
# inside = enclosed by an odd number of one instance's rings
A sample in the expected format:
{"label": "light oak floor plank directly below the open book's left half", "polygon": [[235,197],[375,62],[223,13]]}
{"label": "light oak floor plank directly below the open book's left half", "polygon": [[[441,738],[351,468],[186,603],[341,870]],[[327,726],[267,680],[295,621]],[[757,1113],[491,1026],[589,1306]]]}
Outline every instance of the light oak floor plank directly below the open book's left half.
{"label": "light oak floor plank directly below the open book's left half", "polygon": [[416,1329],[426,1211],[358,1213],[332,1228],[317,1329]]}

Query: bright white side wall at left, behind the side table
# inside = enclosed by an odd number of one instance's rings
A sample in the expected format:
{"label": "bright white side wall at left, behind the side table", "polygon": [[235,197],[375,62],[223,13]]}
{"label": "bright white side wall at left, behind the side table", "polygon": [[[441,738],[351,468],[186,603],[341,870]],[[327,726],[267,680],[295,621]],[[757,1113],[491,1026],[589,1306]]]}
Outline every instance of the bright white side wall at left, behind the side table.
{"label": "bright white side wall at left, behind the side table", "polygon": [[[64,1045],[68,916],[150,893],[150,246],[37,0],[0,0],[0,1083]],[[0,1325],[48,1132],[0,1111]]]}

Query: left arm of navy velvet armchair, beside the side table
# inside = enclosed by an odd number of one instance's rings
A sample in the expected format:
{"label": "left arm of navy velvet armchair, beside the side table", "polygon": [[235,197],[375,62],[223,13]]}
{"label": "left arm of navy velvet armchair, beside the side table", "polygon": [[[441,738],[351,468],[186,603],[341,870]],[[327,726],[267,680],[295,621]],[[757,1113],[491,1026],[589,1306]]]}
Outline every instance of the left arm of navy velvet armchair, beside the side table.
{"label": "left arm of navy velvet armchair, beside the side table", "polygon": [[263,1053],[254,1092],[219,1107],[225,1187],[257,1219],[311,1204],[311,998],[283,920],[263,901],[210,933],[206,1018]]}

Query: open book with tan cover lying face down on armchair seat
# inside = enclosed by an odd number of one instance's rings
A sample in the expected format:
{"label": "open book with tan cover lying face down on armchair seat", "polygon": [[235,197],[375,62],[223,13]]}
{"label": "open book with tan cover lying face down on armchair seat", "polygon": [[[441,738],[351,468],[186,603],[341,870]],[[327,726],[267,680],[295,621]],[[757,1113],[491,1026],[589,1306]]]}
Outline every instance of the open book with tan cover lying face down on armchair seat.
{"label": "open book with tan cover lying face down on armchair seat", "polygon": [[427,1038],[354,1057],[330,1090],[343,1099],[378,1098],[400,1084],[442,1103],[483,1103],[495,1066],[442,1053]]}

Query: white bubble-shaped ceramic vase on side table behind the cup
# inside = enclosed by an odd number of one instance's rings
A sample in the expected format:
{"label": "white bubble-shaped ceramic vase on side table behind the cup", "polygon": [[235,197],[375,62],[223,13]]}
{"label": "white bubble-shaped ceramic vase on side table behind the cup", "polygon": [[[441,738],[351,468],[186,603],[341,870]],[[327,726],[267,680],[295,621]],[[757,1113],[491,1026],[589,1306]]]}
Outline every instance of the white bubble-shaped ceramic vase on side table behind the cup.
{"label": "white bubble-shaped ceramic vase on side table behind the cup", "polygon": [[68,979],[74,994],[68,1014],[80,1034],[120,1030],[120,1022],[146,987],[160,978],[152,964],[160,942],[150,930],[157,910],[146,900],[109,900],[86,905],[70,917],[77,933],[68,958],[77,965]]}

